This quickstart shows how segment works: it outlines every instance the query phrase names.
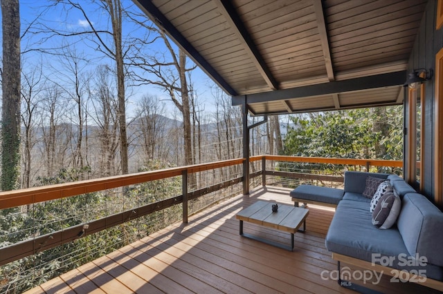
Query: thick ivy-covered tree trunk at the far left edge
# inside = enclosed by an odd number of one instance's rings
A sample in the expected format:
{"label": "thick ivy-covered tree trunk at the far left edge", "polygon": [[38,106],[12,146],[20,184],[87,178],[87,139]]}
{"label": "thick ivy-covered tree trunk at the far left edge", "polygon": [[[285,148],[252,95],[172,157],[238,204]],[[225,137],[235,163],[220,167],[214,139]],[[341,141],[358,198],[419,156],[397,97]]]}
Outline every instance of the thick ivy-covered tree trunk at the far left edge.
{"label": "thick ivy-covered tree trunk at the far left edge", "polygon": [[19,0],[1,0],[3,28],[1,189],[20,181],[20,13]]}

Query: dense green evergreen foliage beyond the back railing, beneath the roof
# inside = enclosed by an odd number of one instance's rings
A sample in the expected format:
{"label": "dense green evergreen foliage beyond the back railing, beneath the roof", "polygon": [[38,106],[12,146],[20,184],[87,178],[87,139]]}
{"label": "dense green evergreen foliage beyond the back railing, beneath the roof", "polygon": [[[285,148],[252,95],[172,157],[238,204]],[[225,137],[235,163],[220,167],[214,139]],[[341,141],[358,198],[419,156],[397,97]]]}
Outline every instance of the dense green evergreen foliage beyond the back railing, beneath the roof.
{"label": "dense green evergreen foliage beyond the back railing, beneath the roof", "polygon": [[[291,117],[292,126],[284,139],[284,155],[401,160],[402,109],[403,106],[361,108]],[[301,168],[300,164],[283,165],[289,170]],[[309,164],[302,166],[306,169]],[[325,165],[309,167],[317,170],[324,168]],[[343,170],[342,166],[329,168],[337,173]]]}

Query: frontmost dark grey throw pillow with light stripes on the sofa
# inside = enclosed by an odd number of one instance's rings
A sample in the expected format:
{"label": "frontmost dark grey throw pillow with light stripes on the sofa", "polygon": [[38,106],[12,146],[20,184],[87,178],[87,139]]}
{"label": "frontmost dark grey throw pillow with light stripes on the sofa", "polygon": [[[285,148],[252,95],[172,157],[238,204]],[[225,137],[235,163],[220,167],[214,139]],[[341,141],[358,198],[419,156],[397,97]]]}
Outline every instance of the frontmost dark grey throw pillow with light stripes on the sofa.
{"label": "frontmost dark grey throw pillow with light stripes on the sofa", "polygon": [[390,228],[397,221],[401,210],[401,199],[395,193],[386,193],[372,213],[372,224],[377,228]]}

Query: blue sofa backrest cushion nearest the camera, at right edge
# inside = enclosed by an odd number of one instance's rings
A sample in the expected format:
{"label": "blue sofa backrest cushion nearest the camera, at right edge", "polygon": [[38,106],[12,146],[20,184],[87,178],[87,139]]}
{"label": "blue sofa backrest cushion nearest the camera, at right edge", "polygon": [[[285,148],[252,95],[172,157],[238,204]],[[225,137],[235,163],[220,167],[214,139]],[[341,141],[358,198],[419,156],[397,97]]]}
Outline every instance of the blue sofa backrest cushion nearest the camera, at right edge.
{"label": "blue sofa backrest cushion nearest the camera, at right edge", "polygon": [[409,254],[443,266],[443,213],[418,193],[404,195],[401,204],[397,227]]}

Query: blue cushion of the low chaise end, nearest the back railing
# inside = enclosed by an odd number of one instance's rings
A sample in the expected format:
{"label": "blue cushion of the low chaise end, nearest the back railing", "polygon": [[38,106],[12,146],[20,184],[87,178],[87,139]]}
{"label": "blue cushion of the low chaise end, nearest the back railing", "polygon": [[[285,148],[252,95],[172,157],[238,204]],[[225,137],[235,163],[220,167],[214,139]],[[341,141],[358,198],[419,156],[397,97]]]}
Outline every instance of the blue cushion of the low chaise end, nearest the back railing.
{"label": "blue cushion of the low chaise end, nearest the back railing", "polygon": [[343,190],[323,186],[300,185],[289,195],[293,198],[307,199],[315,202],[338,204],[343,198]]}

